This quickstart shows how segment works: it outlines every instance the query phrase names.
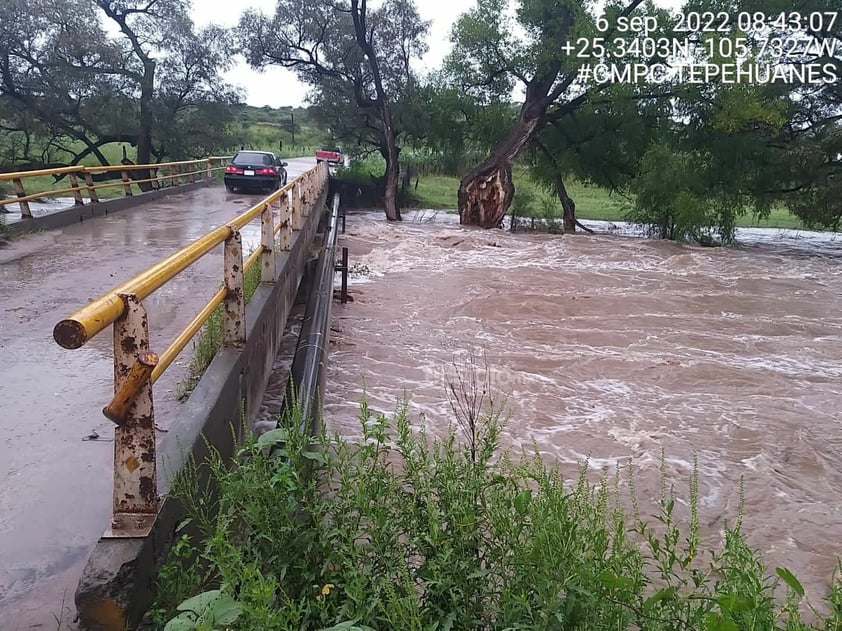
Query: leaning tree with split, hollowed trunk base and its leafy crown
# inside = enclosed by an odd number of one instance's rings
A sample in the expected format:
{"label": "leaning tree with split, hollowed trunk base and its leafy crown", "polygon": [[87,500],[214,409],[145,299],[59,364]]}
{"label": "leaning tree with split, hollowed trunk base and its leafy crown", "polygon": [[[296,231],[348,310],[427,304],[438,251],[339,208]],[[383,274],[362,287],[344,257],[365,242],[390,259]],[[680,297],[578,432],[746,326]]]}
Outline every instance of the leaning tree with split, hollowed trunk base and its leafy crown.
{"label": "leaning tree with split, hollowed trunk base and its leafy crown", "polygon": [[[457,22],[448,71],[462,89],[485,101],[507,100],[515,86],[524,94],[506,137],[460,182],[461,223],[498,226],[514,196],[515,159],[550,121],[575,111],[597,91],[577,83],[581,60],[564,52],[568,42],[597,35],[589,13],[593,4],[523,0],[516,3],[512,18],[506,0],[478,0]],[[611,17],[628,16],[642,4],[630,0],[610,7]],[[605,38],[610,34],[599,33]]]}

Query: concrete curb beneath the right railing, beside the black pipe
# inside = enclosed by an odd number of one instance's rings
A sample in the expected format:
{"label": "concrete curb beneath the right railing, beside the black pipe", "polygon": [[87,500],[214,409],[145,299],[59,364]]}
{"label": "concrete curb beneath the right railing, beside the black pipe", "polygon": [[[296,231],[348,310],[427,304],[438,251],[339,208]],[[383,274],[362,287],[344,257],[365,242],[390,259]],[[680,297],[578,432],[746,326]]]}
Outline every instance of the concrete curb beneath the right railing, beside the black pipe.
{"label": "concrete curb beneath the right railing, beside the black pipe", "polygon": [[[327,191],[316,200],[302,230],[295,234],[292,249],[276,258],[279,281],[261,285],[249,301],[243,348],[225,348],[217,353],[158,446],[161,494],[169,491],[185,464],[191,460],[203,462],[210,448],[230,458],[242,431],[243,404],[249,419],[258,411],[326,199]],[[200,479],[200,484],[204,483]],[[152,604],[158,567],[183,515],[179,502],[166,497],[147,537],[103,538],[97,542],[76,590],[76,609],[83,628],[124,631],[139,624]]]}

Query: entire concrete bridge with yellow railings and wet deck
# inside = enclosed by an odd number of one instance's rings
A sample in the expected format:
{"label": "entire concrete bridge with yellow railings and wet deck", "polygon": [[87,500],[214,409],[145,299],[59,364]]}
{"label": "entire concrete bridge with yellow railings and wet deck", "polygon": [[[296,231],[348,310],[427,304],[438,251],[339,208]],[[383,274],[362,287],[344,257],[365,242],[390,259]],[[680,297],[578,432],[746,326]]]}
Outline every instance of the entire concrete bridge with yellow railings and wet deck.
{"label": "entire concrete bridge with yellow railings and wet deck", "polygon": [[[97,169],[0,176],[14,181],[4,204],[20,216],[5,216],[21,235],[0,248],[4,629],[75,628],[74,599],[94,628],[135,619],[179,515],[168,484],[203,455],[200,435],[224,452],[243,403],[254,419],[307,269],[329,317],[327,166],[290,160],[290,183],[262,197],[214,186],[222,162],[113,167],[110,199]],[[27,190],[26,176],[45,174],[72,176],[59,189],[68,208],[45,210]],[[329,256],[313,270],[316,247]],[[222,348],[181,402],[190,342],[215,311]],[[304,327],[303,346],[323,352],[324,322]],[[307,373],[301,400],[319,360],[293,367]]]}

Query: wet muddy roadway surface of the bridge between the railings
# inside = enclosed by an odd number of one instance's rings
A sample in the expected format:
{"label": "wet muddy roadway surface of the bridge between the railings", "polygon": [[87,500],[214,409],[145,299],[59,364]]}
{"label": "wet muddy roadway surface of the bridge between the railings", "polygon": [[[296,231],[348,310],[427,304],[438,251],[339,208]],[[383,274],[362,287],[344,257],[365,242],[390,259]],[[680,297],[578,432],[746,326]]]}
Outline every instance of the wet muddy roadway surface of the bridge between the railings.
{"label": "wet muddy roadway surface of the bridge between the railings", "polygon": [[[290,179],[313,166],[290,160]],[[56,322],[256,203],[221,185],[23,237],[0,249],[0,628],[73,629],[73,592],[111,512],[110,332],[67,351]],[[243,231],[248,252],[259,225]],[[160,352],[222,279],[201,259],[144,301]],[[175,417],[188,345],[155,386],[159,428]],[[89,439],[96,435],[98,438]],[[62,605],[63,603],[63,605]]]}

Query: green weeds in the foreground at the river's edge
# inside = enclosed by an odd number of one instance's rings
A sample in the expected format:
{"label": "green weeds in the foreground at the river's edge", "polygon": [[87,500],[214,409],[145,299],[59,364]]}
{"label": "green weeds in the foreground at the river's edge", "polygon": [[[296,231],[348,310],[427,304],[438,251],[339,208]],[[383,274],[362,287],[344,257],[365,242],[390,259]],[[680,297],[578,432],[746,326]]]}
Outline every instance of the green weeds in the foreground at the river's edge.
{"label": "green weeds in the foreground at the river's edge", "polygon": [[[178,614],[166,631],[842,629],[842,583],[820,615],[787,570],[766,573],[740,520],[700,550],[695,475],[689,524],[666,480],[647,523],[622,510],[620,474],[594,484],[583,465],[565,482],[537,454],[500,453],[471,392],[451,388],[458,422],[440,440],[405,406],[387,419],[363,402],[358,442],[290,419],[233,467],[211,457],[217,500],[194,467],[177,493],[201,534],[162,571],[154,628]],[[197,594],[201,608],[183,602]]]}

